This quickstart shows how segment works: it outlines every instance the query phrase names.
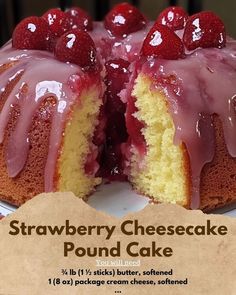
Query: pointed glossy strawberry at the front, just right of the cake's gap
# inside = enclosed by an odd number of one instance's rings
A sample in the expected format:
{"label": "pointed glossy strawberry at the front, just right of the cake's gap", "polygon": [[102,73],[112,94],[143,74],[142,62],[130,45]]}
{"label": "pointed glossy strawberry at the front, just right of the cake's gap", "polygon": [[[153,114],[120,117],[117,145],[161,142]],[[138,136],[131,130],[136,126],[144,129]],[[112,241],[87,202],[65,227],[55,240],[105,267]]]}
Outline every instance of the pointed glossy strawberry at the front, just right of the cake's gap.
{"label": "pointed glossy strawberry at the front, just right of the cake's gap", "polygon": [[184,46],[171,29],[156,23],[147,34],[141,52],[145,56],[178,59],[184,55]]}

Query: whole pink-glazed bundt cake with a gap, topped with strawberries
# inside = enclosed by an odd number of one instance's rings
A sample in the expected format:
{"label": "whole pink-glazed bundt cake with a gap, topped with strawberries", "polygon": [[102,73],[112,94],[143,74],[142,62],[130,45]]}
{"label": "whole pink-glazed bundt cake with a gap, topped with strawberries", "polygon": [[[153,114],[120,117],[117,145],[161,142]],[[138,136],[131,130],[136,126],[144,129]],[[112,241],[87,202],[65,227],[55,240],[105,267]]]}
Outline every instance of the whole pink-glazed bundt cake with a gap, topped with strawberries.
{"label": "whole pink-glazed bundt cake with a gap, topped with strawberries", "polygon": [[0,76],[1,200],[85,198],[103,178],[156,203],[236,202],[236,41],[214,13],[51,9],[16,27]]}

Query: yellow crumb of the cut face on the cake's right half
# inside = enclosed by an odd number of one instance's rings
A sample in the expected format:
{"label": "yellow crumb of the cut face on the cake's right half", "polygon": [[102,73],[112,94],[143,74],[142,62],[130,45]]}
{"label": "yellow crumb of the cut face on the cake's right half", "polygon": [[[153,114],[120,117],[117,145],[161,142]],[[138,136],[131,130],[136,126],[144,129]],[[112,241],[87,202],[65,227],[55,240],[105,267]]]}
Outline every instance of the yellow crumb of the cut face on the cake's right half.
{"label": "yellow crumb of the cut face on the cake's right half", "polygon": [[135,190],[151,196],[154,201],[188,204],[187,169],[183,145],[174,145],[175,127],[165,96],[153,89],[151,80],[140,74],[132,95],[138,111],[135,117],[144,123],[141,132],[146,154],[132,146],[130,180]]}

